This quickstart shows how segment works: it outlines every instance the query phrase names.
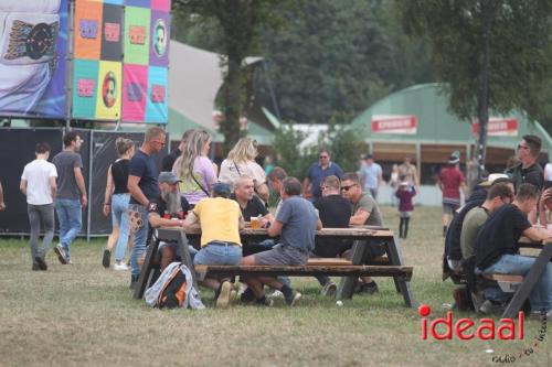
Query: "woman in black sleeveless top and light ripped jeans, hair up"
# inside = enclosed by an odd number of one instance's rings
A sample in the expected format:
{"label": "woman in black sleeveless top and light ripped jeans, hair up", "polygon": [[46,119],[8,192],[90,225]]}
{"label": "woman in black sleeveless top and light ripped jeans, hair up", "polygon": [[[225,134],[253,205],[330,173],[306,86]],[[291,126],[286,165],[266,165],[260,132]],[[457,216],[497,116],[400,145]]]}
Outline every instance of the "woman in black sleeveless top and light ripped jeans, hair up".
{"label": "woman in black sleeveless top and light ripped jeans, hair up", "polygon": [[113,230],[107,239],[107,247],[104,250],[102,265],[109,268],[112,250],[115,245],[115,265],[114,270],[128,270],[125,263],[127,252],[128,237],[130,235],[130,224],[128,219],[128,164],[130,158],[135,154],[135,143],[130,139],[117,138],[115,147],[119,159],[116,160],[107,170],[107,185],[105,188],[104,215],[108,216],[112,212]]}

